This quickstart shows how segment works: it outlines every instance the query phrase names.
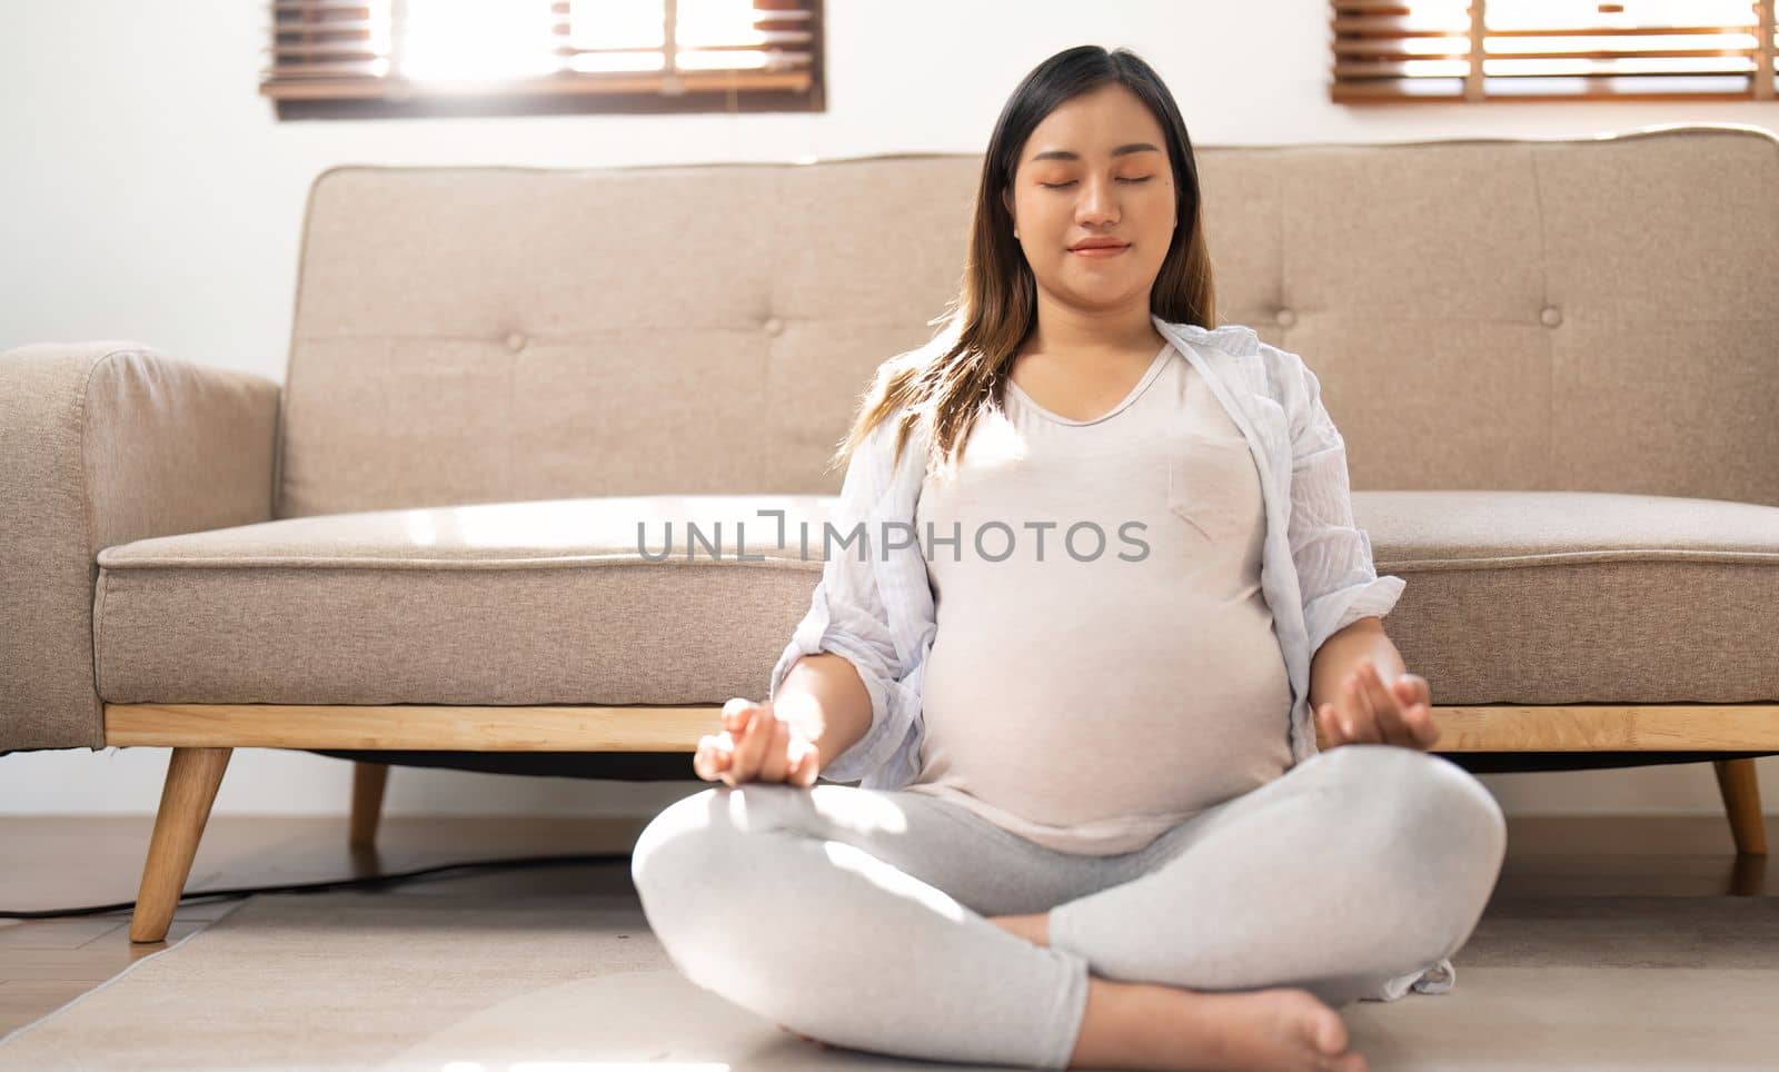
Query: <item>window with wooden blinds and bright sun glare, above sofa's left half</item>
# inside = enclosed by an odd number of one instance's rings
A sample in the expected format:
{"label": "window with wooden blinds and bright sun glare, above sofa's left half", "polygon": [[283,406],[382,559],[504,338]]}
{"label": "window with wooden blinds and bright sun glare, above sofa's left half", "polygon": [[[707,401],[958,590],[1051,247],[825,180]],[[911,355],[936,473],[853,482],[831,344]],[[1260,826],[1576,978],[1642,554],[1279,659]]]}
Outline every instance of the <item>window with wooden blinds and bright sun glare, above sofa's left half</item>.
{"label": "window with wooden blinds and bright sun glare, above sofa's left half", "polygon": [[822,0],[272,0],[279,119],[818,112]]}

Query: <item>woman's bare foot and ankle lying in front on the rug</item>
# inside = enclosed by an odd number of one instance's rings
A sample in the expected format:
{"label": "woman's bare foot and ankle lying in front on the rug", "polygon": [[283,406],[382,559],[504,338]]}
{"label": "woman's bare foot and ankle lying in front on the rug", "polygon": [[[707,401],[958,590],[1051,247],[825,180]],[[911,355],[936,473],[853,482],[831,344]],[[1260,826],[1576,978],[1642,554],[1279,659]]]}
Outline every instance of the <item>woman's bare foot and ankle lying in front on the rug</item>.
{"label": "woman's bare foot and ankle lying in front on the rug", "polygon": [[1364,1072],[1347,1024],[1292,987],[1203,992],[1089,976],[1071,1068]]}

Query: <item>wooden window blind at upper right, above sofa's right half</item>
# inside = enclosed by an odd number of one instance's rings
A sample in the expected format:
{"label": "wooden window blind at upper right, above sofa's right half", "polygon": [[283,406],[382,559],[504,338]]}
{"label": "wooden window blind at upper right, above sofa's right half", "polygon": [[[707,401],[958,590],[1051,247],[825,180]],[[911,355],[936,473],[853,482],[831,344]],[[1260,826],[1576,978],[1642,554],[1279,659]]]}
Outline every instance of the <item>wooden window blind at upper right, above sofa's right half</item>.
{"label": "wooden window blind at upper right, above sofa's right half", "polygon": [[1332,0],[1338,103],[1774,100],[1774,0]]}

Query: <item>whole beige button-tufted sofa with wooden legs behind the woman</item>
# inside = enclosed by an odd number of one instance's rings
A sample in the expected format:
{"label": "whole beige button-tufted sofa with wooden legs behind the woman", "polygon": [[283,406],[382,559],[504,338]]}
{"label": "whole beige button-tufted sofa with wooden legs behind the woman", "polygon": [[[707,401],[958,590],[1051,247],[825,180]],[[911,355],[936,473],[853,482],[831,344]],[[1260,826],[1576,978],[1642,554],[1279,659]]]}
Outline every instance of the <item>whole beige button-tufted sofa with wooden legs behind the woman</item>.
{"label": "whole beige button-tufted sofa with wooden legs behind the woman", "polygon": [[[1437,750],[1713,760],[1763,853],[1774,137],[1199,162],[1220,321],[1322,378]],[[132,937],[165,933],[233,748],[359,760],[359,842],[388,762],[690,780],[808,609],[799,524],[818,548],[859,392],[954,294],[977,167],[338,167],[283,385],[0,356],[0,748],[174,750]]]}

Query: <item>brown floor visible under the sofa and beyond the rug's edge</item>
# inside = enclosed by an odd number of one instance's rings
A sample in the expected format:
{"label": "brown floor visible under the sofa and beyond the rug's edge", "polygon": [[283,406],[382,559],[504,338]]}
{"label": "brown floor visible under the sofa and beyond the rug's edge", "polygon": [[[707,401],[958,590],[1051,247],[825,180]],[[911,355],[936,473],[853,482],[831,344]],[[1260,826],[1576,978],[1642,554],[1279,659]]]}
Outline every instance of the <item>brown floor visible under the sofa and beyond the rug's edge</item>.
{"label": "brown floor visible under the sofa and beyond the rug's edge", "polygon": [[[688,792],[696,787],[688,787]],[[648,819],[391,817],[379,849],[354,853],[345,819],[212,817],[189,890],[384,874],[459,860],[626,851]],[[0,817],[7,867],[0,908],[30,910],[135,899],[153,817]],[[1779,816],[1768,817],[1779,846]],[[630,867],[486,871],[427,878],[404,892],[553,890],[630,894]],[[1736,857],[1713,816],[1510,817],[1496,896],[1779,896],[1772,857]],[[185,905],[169,940],[203,928],[237,901]],[[165,944],[130,942],[128,912],[52,921],[0,921],[0,1035],[75,999]]]}

